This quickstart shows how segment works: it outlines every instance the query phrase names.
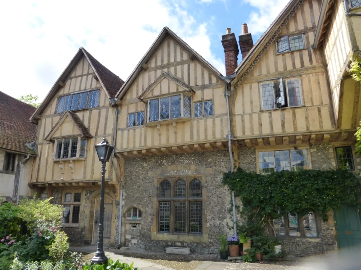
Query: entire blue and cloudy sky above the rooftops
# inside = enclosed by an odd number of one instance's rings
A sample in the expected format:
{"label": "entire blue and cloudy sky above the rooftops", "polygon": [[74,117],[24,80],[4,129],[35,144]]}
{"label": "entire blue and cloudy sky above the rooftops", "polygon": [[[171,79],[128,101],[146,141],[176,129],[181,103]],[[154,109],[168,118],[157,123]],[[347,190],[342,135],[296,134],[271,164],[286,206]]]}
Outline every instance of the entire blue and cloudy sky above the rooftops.
{"label": "entire blue and cloudy sky above the rooftops", "polygon": [[42,101],[81,46],[126,80],[165,26],[225,74],[221,36],[226,28],[238,39],[247,23],[255,43],[287,2],[6,1],[0,11],[0,91]]}

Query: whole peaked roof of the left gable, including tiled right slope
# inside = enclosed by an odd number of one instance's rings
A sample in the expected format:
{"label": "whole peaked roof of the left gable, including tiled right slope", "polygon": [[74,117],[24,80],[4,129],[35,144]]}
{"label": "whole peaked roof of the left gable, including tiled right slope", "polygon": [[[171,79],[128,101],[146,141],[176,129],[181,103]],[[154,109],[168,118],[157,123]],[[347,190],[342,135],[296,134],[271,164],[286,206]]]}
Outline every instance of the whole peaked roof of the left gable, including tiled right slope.
{"label": "whole peaked roof of the left gable, including tiled right slope", "polygon": [[91,68],[94,70],[96,77],[99,79],[100,84],[102,85],[106,96],[109,100],[113,99],[118,92],[119,88],[124,84],[124,81],[108,70],[104,65],[102,65],[97,59],[95,59],[91,54],[89,54],[83,47],[80,47],[76,55],[71,59],[70,63],[67,65],[60,77],[55,81],[54,85],[50,89],[49,93],[45,96],[42,104],[31,116],[30,120],[34,121],[35,116],[42,114],[46,108],[48,102],[55,96],[55,94],[62,87],[59,82],[64,82],[71,74],[73,68],[77,65],[82,57],[85,57]]}

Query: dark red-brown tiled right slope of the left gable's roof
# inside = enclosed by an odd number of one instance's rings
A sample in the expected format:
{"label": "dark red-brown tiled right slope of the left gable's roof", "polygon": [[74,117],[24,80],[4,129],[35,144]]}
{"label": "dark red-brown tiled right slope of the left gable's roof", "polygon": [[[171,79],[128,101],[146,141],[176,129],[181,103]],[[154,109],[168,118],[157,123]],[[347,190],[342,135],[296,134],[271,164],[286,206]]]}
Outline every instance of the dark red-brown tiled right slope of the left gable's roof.
{"label": "dark red-brown tiled right slope of the left gable's roof", "polygon": [[80,48],[85,57],[88,59],[91,67],[93,68],[95,74],[97,75],[100,83],[102,84],[106,94],[109,98],[114,98],[118,90],[124,84],[124,80],[116,76],[105,66],[103,66],[97,59],[95,59],[91,54],[89,54],[83,47]]}

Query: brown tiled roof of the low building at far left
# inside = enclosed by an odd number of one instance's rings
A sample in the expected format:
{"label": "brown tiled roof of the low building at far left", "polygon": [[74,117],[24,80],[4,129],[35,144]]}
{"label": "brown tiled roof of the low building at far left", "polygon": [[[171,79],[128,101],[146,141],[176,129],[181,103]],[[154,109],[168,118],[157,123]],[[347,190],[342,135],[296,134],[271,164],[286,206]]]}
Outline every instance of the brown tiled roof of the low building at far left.
{"label": "brown tiled roof of the low building at far left", "polygon": [[35,155],[25,144],[35,141],[37,125],[29,118],[36,108],[0,92],[0,148]]}

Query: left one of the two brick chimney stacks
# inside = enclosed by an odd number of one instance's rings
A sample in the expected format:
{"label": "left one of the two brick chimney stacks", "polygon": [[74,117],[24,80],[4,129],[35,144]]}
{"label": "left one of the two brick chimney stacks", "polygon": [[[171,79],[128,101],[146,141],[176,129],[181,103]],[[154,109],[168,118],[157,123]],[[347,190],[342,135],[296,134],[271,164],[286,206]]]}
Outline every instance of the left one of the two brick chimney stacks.
{"label": "left one of the two brick chimney stacks", "polygon": [[232,75],[238,65],[238,44],[231,28],[227,28],[227,34],[222,36],[222,45],[224,48],[224,60],[226,63],[226,76]]}

